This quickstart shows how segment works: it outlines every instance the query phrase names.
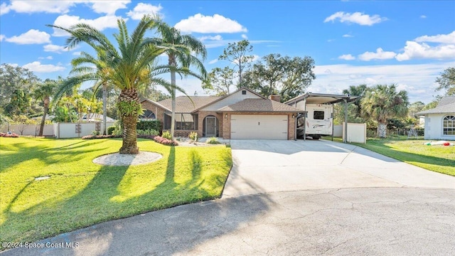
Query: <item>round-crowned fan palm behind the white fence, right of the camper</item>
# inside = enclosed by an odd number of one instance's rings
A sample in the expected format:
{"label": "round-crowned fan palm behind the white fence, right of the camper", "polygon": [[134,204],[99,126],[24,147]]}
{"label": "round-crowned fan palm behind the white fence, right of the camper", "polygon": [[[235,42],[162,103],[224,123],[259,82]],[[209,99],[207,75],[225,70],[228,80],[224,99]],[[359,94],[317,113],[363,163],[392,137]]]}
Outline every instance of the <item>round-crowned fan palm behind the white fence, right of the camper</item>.
{"label": "round-crowned fan palm behind the white fence, right of the camper", "polygon": [[365,92],[361,100],[362,112],[378,121],[378,136],[387,137],[387,119],[406,117],[407,92],[397,92],[395,85],[376,85]]}

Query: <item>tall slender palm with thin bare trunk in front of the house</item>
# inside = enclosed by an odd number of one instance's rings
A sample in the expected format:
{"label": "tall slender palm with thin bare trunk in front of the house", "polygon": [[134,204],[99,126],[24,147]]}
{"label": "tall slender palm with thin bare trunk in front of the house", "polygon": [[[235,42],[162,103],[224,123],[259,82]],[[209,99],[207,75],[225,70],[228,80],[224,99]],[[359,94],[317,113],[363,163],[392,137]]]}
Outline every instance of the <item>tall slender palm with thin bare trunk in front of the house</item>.
{"label": "tall slender palm with thin bare trunk in front of the house", "polygon": [[[207,71],[204,68],[203,63],[196,57],[200,55],[203,60],[207,55],[205,46],[197,38],[191,35],[181,35],[178,29],[168,26],[159,18],[156,18],[156,29],[159,31],[161,38],[155,38],[156,45],[171,45],[174,48],[168,48],[166,55],[168,56],[168,65],[171,67],[171,91],[169,93],[172,97],[172,115],[171,115],[171,136],[173,133],[176,123],[176,72],[175,68],[178,64],[181,68],[187,70],[186,75],[192,75],[200,80],[206,80]],[[189,51],[188,51],[189,50]],[[196,56],[191,55],[193,52]],[[196,66],[200,75],[193,73],[189,70],[190,65]]]}

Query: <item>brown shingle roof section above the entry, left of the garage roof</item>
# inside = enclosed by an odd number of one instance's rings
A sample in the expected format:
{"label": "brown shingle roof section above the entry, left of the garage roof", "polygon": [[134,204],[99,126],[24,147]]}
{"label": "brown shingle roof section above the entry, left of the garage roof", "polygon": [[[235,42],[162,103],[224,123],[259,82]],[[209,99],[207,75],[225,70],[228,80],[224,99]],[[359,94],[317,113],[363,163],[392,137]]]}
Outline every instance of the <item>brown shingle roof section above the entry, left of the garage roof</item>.
{"label": "brown shingle roof section above the entry, left of the garage roof", "polygon": [[[190,96],[190,99],[186,96],[176,97],[176,112],[178,113],[191,113],[193,110],[198,109],[204,105],[208,105],[210,102],[218,100],[220,97],[211,97],[211,96]],[[169,110],[172,109],[172,99],[161,100],[158,102]],[[193,104],[194,103],[194,104]]]}

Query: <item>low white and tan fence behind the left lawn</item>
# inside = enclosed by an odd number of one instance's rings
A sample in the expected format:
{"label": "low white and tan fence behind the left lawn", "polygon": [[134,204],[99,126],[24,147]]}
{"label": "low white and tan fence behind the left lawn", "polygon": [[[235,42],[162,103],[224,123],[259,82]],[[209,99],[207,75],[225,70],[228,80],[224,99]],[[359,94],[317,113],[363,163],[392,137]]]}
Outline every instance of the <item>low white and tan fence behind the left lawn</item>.
{"label": "low white and tan fence behind the left lawn", "polygon": [[[114,125],[114,122],[107,122],[107,127]],[[14,132],[25,136],[38,136],[39,124],[11,124],[1,127],[1,132]],[[55,138],[80,138],[85,135],[92,134],[93,131],[104,131],[102,122],[87,122],[87,123],[55,123],[45,124],[43,136]]]}

